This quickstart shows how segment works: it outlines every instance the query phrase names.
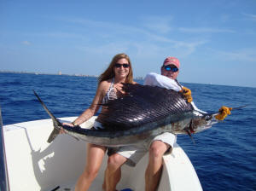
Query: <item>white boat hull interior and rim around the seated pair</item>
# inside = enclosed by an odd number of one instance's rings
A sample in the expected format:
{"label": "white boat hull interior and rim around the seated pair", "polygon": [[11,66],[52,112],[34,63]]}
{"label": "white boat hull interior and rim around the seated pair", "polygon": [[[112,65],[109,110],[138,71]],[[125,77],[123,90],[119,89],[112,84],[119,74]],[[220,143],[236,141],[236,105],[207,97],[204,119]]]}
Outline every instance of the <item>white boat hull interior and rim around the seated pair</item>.
{"label": "white boat hull interior and rim around the seated pair", "polygon": [[[81,126],[90,128],[95,118]],[[70,122],[73,119],[76,117],[61,120]],[[49,144],[46,141],[52,130],[51,119],[3,127],[10,190],[74,190],[74,185],[84,170],[86,142],[77,141],[72,136],[59,135]],[[107,160],[108,156],[105,155],[102,168],[90,187],[91,191],[102,190]],[[136,167],[124,165],[117,189],[131,188],[143,191],[147,164],[148,155],[145,155]],[[177,144],[172,154],[164,156],[164,168],[158,190],[202,190],[193,165]]]}

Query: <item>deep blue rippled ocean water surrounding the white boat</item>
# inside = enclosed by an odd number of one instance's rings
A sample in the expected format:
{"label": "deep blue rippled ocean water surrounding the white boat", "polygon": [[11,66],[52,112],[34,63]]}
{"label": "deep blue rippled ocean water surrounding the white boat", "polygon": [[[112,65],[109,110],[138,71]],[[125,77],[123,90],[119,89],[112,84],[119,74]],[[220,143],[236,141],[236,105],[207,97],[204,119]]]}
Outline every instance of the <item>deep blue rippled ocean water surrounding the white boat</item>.
{"label": "deep blue rippled ocean water surrounding the white boat", "polygon": [[[97,78],[92,77],[0,72],[3,124],[49,118],[32,90],[56,117],[78,116],[90,106],[96,85]],[[256,89],[183,85],[192,90],[195,105],[207,112],[249,104],[232,111],[223,123],[195,134],[195,144],[189,136],[178,136],[177,143],[188,154],[204,190],[256,190]]]}

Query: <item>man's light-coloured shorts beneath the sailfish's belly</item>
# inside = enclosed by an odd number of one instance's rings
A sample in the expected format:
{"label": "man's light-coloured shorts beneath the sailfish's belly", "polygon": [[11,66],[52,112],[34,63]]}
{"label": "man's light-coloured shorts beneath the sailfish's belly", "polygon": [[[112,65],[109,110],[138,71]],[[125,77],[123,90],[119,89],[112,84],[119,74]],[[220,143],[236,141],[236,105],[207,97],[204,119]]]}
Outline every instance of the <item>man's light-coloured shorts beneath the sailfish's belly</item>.
{"label": "man's light-coloured shorts beneath the sailfish's belly", "polygon": [[170,145],[171,148],[166,151],[166,153],[169,153],[172,152],[173,144],[176,142],[176,140],[176,135],[165,132],[163,134],[160,134],[159,136],[155,136],[154,139],[146,140],[145,142],[140,144],[113,148],[113,153],[119,153],[120,155],[124,156],[127,159],[127,161],[125,162],[126,165],[135,166],[138,161],[142,159],[143,156],[148,152],[148,148],[150,147],[152,142],[161,141]]}

